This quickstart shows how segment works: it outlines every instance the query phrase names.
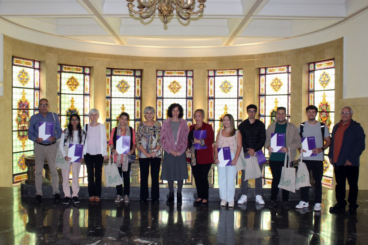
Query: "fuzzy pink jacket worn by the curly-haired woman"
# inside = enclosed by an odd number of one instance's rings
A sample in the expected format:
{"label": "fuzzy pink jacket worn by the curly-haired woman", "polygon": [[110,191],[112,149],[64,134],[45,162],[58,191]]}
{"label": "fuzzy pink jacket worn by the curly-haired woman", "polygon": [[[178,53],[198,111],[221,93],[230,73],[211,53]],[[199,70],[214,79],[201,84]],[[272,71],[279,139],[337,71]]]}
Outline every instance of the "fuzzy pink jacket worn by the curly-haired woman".
{"label": "fuzzy pink jacket worn by the curly-haired woman", "polygon": [[180,119],[180,126],[178,129],[178,134],[176,137],[177,145],[175,145],[174,141],[174,135],[171,131],[170,126],[171,118],[168,118],[163,121],[162,128],[161,128],[161,145],[164,151],[169,152],[170,151],[178,151],[180,154],[183,154],[185,152],[185,149],[187,149],[188,144],[188,122],[184,119]]}

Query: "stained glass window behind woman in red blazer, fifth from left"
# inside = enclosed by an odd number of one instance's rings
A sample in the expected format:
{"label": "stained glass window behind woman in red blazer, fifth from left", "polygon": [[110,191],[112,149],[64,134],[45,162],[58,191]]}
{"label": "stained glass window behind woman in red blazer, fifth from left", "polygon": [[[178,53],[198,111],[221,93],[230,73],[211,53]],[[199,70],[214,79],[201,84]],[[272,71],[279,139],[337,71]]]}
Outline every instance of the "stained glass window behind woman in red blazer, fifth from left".
{"label": "stained glass window behind woman in red blazer, fifth from left", "polygon": [[225,114],[234,117],[236,127],[243,121],[243,69],[208,71],[208,123],[215,137]]}

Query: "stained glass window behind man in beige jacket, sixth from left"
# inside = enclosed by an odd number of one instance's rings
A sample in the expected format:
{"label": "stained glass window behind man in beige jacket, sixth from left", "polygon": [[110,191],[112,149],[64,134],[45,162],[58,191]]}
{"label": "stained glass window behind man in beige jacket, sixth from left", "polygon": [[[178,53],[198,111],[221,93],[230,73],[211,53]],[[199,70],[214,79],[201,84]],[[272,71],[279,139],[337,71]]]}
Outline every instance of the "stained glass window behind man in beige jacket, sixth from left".
{"label": "stained glass window behind man in beige jacket, sixth from left", "polygon": [[[291,66],[259,68],[259,120],[266,128],[276,120],[277,107],[285,107],[290,120]],[[268,150],[264,149],[268,158]],[[263,167],[263,184],[270,184],[272,176],[269,167]]]}

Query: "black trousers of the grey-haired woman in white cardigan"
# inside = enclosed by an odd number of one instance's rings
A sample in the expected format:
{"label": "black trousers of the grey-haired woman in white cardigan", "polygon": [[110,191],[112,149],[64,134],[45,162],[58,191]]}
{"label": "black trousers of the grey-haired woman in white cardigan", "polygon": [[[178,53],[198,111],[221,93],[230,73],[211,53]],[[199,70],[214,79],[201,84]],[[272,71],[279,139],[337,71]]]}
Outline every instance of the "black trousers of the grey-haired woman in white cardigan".
{"label": "black trousers of the grey-haired woman in white cardigan", "polygon": [[101,197],[102,163],[103,156],[84,155],[87,167],[88,194],[90,197]]}

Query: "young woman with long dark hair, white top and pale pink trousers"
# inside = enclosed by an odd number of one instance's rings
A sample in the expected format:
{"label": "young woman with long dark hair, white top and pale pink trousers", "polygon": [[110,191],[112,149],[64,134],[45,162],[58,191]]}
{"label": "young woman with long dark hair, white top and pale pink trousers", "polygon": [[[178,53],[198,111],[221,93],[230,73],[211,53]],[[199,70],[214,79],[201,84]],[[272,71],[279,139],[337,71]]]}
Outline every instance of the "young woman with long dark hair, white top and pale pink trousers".
{"label": "young woman with long dark hair, white top and pale pink trousers", "polygon": [[81,163],[84,162],[84,158],[80,159],[79,162],[72,162],[72,181],[71,181],[71,189],[73,194],[70,195],[70,187],[69,187],[69,174],[70,174],[70,161],[71,158],[67,156],[64,147],[69,148],[69,144],[83,144],[86,137],[85,131],[81,127],[81,118],[78,114],[72,114],[69,117],[68,127],[64,129],[61,134],[59,148],[61,153],[64,156],[65,161],[69,162],[69,169],[61,169],[61,174],[63,175],[63,191],[64,191],[64,205],[68,205],[70,199],[72,199],[73,203],[78,205],[78,192],[79,192],[79,171],[81,170]]}

